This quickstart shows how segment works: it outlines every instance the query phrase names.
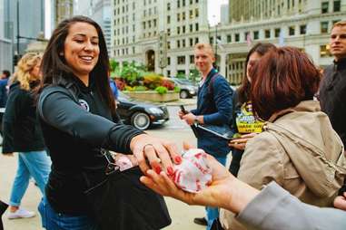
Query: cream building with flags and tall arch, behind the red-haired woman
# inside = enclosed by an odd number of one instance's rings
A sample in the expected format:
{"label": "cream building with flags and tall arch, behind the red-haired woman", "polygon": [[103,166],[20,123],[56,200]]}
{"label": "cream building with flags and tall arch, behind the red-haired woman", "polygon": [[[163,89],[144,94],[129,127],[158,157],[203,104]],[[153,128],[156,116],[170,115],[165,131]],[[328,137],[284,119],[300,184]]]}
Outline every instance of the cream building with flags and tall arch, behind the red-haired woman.
{"label": "cream building with flags and tall arch, behind the red-haired woman", "polygon": [[[221,72],[228,81],[242,80],[246,54],[254,43],[291,45],[308,53],[321,67],[331,64],[331,26],[346,20],[346,0],[229,0],[230,24],[218,32]],[[214,43],[214,41],[213,41]]]}

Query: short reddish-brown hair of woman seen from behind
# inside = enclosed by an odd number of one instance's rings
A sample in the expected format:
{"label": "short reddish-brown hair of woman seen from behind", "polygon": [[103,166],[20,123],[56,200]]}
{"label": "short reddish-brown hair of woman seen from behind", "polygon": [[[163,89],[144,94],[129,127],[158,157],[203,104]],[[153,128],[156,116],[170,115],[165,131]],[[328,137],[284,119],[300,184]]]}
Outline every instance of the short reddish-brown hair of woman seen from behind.
{"label": "short reddish-brown hair of woman seen from behind", "polygon": [[250,72],[252,107],[262,120],[273,113],[312,100],[321,72],[297,48],[282,47],[264,54]]}

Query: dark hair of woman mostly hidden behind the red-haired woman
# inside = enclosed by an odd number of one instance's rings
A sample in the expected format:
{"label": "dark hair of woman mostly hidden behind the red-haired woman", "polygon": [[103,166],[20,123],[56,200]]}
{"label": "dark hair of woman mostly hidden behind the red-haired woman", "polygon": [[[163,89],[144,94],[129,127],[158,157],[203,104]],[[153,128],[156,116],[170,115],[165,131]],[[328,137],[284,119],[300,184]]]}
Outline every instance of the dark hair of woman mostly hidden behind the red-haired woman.
{"label": "dark hair of woman mostly hidden behind the red-haired woman", "polygon": [[243,104],[246,101],[249,101],[251,83],[249,82],[248,77],[246,76],[246,69],[248,66],[250,56],[252,55],[252,53],[258,53],[261,56],[263,56],[272,48],[275,48],[275,45],[273,45],[272,43],[256,43],[252,47],[252,49],[249,51],[248,55],[246,56],[244,76],[242,78],[242,85],[238,89],[238,99],[239,99],[238,103]]}

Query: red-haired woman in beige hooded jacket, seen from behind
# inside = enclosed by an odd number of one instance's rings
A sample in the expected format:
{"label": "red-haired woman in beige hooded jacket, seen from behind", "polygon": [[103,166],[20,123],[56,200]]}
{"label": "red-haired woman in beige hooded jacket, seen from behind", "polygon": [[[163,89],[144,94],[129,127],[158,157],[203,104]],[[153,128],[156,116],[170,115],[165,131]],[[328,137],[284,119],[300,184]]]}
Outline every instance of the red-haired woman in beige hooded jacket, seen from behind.
{"label": "red-haired woman in beige hooded jacket, seen from behind", "polygon": [[[275,181],[302,202],[332,206],[346,175],[341,139],[320,103],[313,101],[321,73],[297,48],[273,48],[250,72],[251,99],[265,120],[247,142],[238,177],[261,189]],[[243,229],[221,212],[225,229]]]}

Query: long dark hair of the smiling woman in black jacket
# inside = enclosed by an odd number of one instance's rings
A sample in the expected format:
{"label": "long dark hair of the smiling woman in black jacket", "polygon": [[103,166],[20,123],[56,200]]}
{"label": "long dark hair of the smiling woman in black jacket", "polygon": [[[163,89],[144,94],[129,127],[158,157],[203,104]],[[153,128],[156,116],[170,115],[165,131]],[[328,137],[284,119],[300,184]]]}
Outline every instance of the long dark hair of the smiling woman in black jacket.
{"label": "long dark hair of the smiling woman in black jacket", "polygon": [[59,83],[68,79],[74,78],[74,74],[70,66],[65,62],[64,56],[64,42],[69,28],[76,23],[86,23],[94,25],[99,39],[100,54],[96,65],[92,72],[90,72],[90,79],[95,82],[95,87],[98,93],[102,96],[105,103],[111,109],[112,114],[115,114],[115,103],[112,90],[109,85],[109,59],[104,40],[104,33],[99,24],[95,23],[92,19],[85,16],[74,16],[65,19],[54,29],[51,39],[44,51],[43,60],[41,63],[41,71],[43,74],[43,81],[39,87],[39,91],[47,85],[58,85]]}

